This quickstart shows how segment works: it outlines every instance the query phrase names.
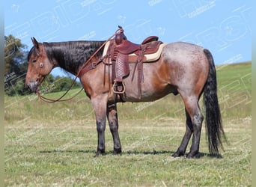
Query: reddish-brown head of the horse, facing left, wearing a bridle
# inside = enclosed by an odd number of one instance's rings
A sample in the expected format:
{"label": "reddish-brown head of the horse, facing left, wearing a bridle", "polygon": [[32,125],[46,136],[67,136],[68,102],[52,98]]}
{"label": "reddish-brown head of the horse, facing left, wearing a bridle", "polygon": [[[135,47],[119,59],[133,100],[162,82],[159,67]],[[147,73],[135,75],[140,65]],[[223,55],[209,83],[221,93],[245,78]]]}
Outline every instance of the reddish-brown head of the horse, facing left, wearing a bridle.
{"label": "reddish-brown head of the horse, facing left, wearing a bridle", "polygon": [[46,55],[43,43],[38,43],[34,37],[31,40],[34,46],[28,53],[28,70],[25,77],[25,86],[31,92],[37,92],[37,88],[43,82],[44,77],[51,72],[53,64]]}

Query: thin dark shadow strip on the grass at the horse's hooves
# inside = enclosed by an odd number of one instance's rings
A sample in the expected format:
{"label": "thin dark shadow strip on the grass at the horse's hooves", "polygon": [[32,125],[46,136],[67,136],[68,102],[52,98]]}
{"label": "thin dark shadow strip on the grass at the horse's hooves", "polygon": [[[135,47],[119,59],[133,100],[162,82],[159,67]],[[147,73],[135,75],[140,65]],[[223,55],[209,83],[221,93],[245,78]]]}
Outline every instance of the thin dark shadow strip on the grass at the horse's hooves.
{"label": "thin dark shadow strip on the grass at the horse's hooves", "polygon": [[[39,153],[95,153],[95,150],[40,150]],[[174,151],[168,150],[127,150],[123,151],[121,155],[168,155],[171,156]],[[113,151],[106,151],[106,155],[113,154]],[[118,154],[120,156],[120,154]],[[186,157],[186,156],[180,156]],[[216,159],[222,159],[221,155],[212,155],[210,153],[199,152],[193,159],[200,159],[202,157],[210,157]]]}

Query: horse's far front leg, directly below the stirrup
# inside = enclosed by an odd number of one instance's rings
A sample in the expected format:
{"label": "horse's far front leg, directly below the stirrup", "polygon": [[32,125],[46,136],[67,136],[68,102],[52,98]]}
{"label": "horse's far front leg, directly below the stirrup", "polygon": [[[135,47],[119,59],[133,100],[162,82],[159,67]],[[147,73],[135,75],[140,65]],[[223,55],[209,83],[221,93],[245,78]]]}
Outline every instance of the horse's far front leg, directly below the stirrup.
{"label": "horse's far front leg, directly below the stirrup", "polygon": [[112,133],[114,141],[114,152],[113,154],[121,154],[121,142],[118,134],[118,111],[116,103],[109,103],[107,106],[107,117],[109,120],[109,129]]}

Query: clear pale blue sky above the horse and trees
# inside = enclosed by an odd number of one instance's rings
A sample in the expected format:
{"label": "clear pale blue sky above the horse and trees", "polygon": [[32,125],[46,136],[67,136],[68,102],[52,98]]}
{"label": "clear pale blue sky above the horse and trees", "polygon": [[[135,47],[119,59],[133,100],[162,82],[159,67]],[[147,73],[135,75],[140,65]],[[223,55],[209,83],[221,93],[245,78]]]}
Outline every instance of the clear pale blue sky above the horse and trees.
{"label": "clear pale blue sky above the horse and trees", "polygon": [[106,40],[118,25],[133,43],[155,35],[165,43],[204,46],[216,64],[252,60],[252,1],[4,1],[4,35],[18,37],[28,50],[31,37],[39,42]]}

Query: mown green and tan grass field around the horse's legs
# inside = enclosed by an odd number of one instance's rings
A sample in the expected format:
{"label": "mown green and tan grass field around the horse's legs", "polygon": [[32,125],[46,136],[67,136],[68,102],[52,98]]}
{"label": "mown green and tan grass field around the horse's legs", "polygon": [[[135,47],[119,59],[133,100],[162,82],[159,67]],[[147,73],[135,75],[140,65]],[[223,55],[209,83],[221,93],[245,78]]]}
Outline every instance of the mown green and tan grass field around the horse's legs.
{"label": "mown green and tan grass field around the horse's legs", "polygon": [[98,158],[94,112],[84,93],[55,104],[36,96],[6,96],[5,185],[251,186],[252,63],[217,67],[217,78],[229,142],[222,158],[209,156],[204,128],[196,159],[171,157],[185,132],[180,96],[119,103],[123,154],[112,155],[107,127],[107,154]]}

